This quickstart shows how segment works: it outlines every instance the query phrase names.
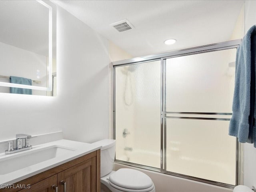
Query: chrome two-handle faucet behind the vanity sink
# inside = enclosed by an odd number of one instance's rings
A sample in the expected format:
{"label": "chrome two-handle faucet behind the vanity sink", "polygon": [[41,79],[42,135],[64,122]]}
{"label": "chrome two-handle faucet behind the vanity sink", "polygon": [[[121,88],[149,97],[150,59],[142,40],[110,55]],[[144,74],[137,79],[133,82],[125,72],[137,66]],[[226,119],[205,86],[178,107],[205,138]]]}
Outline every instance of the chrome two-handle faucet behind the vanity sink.
{"label": "chrome two-handle faucet behind the vanity sink", "polygon": [[[30,145],[30,139],[33,138],[31,135],[27,134],[16,134],[16,139],[0,142],[1,143],[8,143],[8,149],[5,150],[5,154],[13,154],[20,151],[25,151],[32,149]],[[13,147],[13,143],[16,141],[16,147]]]}

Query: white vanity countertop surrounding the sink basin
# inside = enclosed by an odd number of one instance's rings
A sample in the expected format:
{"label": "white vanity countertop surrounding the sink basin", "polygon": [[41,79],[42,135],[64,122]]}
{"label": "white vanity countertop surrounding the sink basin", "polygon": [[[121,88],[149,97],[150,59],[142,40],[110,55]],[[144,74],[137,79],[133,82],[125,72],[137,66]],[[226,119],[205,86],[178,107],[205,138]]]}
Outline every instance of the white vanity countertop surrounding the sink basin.
{"label": "white vanity countertop surrounding the sink basin", "polygon": [[[32,146],[32,149],[30,149],[30,150],[17,152],[14,154],[0,153],[0,164],[3,163],[2,161],[6,160],[6,159],[19,158],[19,156],[31,154],[34,151],[37,151],[37,150],[40,150],[40,149],[43,149],[46,147],[51,147],[51,146],[59,146],[59,147],[64,147],[64,148],[68,148],[71,150],[68,153],[65,153],[63,155],[58,155],[49,160],[31,165],[31,166],[27,166],[27,167],[19,169],[19,170],[14,170],[13,172],[10,172],[7,174],[0,174],[0,188],[1,188],[2,184],[14,184],[15,182],[24,180],[24,179],[34,176],[38,173],[44,172],[46,170],[54,168],[58,165],[66,163],[70,160],[74,160],[78,157],[84,156],[86,154],[89,154],[90,152],[93,152],[93,151],[101,148],[101,146],[96,146],[94,144],[62,139],[62,140],[58,140],[58,141],[53,141],[53,142],[48,142],[45,144]],[[22,162],[20,162],[20,163],[22,163]]]}

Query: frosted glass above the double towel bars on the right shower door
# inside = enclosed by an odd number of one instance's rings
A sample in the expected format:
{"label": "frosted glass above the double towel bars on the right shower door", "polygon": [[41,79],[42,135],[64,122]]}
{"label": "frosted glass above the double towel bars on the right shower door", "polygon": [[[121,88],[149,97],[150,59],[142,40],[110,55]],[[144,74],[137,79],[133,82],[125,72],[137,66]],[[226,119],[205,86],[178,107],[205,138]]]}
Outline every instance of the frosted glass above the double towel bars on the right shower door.
{"label": "frosted glass above the double towel bars on the right shower door", "polygon": [[166,59],[167,112],[232,112],[236,48]]}

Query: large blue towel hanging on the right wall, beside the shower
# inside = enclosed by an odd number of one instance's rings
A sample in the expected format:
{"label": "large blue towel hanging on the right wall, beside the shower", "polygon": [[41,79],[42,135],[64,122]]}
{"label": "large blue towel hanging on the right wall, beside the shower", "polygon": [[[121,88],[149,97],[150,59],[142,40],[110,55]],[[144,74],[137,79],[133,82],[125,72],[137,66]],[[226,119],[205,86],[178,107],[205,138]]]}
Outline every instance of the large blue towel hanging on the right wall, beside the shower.
{"label": "large blue towel hanging on the right wall, beside the shower", "polygon": [[248,30],[237,48],[233,113],[230,119],[228,134],[236,136],[239,142],[254,143],[256,147],[256,133],[254,136],[253,130],[254,116],[256,116],[256,112],[254,112],[255,34],[256,26],[254,25]]}

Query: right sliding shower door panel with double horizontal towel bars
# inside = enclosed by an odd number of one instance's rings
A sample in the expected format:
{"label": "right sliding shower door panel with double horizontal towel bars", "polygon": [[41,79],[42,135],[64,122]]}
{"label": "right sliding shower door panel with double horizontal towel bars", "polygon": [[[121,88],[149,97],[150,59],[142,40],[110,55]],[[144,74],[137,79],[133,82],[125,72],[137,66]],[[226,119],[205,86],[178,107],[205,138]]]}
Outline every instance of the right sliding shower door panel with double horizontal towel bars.
{"label": "right sliding shower door panel with double horizontal towel bars", "polygon": [[236,138],[228,136],[235,54],[166,59],[166,171],[236,184]]}

